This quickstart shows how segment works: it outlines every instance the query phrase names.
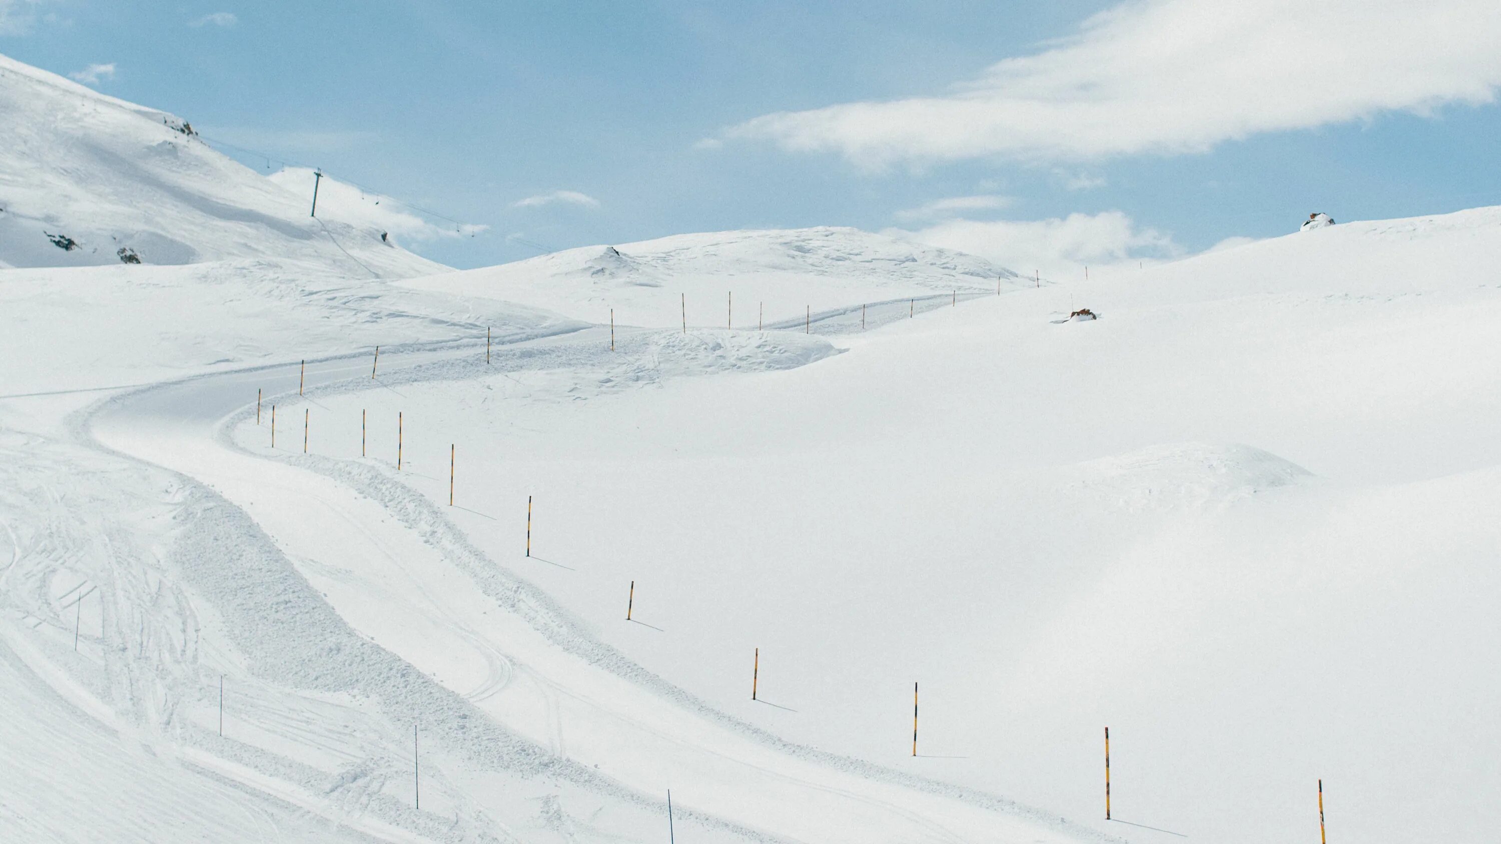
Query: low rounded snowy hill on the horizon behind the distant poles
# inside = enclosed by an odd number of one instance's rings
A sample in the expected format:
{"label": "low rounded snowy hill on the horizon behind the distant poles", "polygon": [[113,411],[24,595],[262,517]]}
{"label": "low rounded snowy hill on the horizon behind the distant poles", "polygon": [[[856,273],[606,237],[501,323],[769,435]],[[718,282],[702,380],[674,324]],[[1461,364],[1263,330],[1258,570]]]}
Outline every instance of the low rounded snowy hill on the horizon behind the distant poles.
{"label": "low rounded snowy hill on the horizon behind the distant poles", "polygon": [[[719,325],[802,322],[865,303],[1019,286],[983,258],[853,228],[680,234],[585,246],[480,270],[407,282],[501,298],[590,322]],[[686,312],[686,315],[684,315]]]}

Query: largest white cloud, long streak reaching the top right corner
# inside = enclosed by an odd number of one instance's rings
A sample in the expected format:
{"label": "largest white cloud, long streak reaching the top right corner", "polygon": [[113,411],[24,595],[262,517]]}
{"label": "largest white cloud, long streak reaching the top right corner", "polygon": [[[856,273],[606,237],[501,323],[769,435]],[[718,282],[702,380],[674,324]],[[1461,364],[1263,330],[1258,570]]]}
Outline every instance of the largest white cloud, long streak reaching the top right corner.
{"label": "largest white cloud, long streak reaching the top right corner", "polygon": [[1495,0],[1142,0],[949,93],[757,117],[728,136],[880,168],[1196,153],[1258,132],[1489,103]]}

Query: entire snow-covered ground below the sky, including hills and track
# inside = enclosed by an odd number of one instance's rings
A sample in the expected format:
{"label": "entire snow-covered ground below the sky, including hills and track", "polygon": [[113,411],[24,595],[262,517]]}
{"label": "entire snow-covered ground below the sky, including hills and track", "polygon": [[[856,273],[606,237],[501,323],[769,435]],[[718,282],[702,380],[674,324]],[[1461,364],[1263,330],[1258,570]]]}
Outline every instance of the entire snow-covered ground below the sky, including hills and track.
{"label": "entire snow-covered ground below the sky, including hills and track", "polygon": [[440,274],[3,61],[5,231],[192,253],[0,240],[0,838],[1493,838],[1501,208]]}

